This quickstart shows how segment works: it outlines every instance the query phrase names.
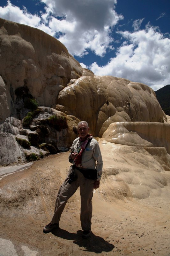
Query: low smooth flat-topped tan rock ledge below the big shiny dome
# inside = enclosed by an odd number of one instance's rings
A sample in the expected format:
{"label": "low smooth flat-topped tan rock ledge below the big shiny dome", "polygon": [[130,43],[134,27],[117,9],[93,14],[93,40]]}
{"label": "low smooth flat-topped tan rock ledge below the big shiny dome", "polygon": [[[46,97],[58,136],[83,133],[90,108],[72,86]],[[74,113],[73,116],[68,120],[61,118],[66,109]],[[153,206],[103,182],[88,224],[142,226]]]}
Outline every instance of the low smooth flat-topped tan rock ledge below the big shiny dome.
{"label": "low smooth flat-topped tan rock ledge below the big shiny dome", "polygon": [[104,132],[103,140],[128,146],[164,147],[170,154],[170,125],[153,122],[112,123]]}

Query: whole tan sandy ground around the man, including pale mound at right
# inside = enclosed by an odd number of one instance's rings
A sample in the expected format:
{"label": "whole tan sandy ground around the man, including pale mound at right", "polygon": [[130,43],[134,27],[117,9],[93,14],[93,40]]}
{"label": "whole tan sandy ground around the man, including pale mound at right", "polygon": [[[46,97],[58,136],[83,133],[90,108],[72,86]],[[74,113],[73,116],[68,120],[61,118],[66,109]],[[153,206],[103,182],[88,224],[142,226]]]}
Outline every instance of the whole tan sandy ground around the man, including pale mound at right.
{"label": "whole tan sandy ground around the man, including pale mound at right", "polygon": [[161,153],[104,140],[100,148],[104,171],[93,194],[92,237],[81,238],[79,191],[68,201],[60,229],[42,232],[70,166],[65,152],[0,180],[0,255],[170,255],[170,172]]}

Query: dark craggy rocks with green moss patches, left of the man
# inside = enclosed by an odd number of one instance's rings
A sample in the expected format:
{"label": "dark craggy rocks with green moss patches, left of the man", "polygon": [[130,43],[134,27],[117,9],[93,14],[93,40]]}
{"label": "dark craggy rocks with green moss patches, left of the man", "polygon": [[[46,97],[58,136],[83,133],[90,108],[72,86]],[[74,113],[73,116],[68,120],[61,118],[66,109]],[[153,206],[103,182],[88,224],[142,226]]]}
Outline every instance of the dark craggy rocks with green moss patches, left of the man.
{"label": "dark craggy rocks with green moss patches, left of the man", "polygon": [[77,118],[68,117],[67,127],[61,124],[61,127],[58,124],[55,127],[50,124],[50,117],[67,116],[52,108],[41,107],[38,110],[28,127],[23,127],[23,121],[15,117],[9,117],[0,124],[0,165],[39,160],[72,143],[76,136],[72,124],[78,123]]}

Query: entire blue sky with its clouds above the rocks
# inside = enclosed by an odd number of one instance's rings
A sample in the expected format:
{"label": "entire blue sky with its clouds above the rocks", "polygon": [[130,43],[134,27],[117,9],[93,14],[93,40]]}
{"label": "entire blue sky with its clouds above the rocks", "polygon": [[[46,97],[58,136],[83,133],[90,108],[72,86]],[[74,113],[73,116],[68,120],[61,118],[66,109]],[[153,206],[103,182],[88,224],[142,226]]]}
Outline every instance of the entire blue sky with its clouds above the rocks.
{"label": "entire blue sky with its clouds above the rocks", "polygon": [[1,0],[0,17],[56,37],[95,75],[170,84],[170,0]]}

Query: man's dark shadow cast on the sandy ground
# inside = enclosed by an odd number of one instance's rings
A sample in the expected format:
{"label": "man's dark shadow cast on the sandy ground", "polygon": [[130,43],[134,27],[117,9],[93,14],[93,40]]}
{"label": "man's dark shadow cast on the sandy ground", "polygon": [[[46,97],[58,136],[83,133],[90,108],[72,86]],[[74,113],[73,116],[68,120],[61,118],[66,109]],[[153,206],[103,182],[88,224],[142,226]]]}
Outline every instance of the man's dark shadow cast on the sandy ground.
{"label": "man's dark shadow cast on the sandy ground", "polygon": [[89,238],[82,238],[82,230],[78,230],[77,233],[70,233],[64,229],[58,228],[53,230],[51,233],[54,236],[58,236],[63,239],[73,240],[74,244],[78,244],[79,247],[84,247],[84,249],[80,249],[82,251],[101,253],[110,252],[115,248],[113,244],[105,241],[100,236],[95,236],[93,233],[91,233],[91,237]]}

